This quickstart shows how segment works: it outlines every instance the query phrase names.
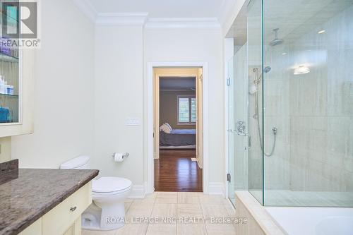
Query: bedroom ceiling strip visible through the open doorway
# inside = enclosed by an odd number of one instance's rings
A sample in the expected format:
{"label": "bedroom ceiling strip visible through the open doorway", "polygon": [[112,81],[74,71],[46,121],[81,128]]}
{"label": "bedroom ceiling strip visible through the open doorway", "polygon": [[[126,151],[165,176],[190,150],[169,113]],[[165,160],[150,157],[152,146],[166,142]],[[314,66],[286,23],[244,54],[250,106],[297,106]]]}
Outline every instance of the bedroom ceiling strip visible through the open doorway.
{"label": "bedroom ceiling strip visible through the open doorway", "polygon": [[160,78],[160,90],[191,90],[195,88],[195,78]]}

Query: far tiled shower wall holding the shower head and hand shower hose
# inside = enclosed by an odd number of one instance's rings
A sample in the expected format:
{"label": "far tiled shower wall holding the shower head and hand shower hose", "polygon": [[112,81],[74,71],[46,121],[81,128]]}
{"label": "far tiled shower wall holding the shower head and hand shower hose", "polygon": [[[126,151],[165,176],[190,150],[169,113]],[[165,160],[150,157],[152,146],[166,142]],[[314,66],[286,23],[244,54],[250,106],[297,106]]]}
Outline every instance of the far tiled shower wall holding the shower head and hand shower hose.
{"label": "far tiled shower wall holding the shower head and hand shower hose", "polygon": [[[249,89],[253,85],[255,74],[253,68],[258,68],[261,76],[261,1],[254,2],[248,16],[248,56],[249,56]],[[289,59],[282,56],[287,50],[285,44],[277,47],[264,47],[264,66],[270,66],[271,71],[265,73],[264,87],[258,86],[258,119],[256,114],[255,94],[249,94],[249,133],[251,147],[249,149],[249,188],[263,187],[263,160],[265,164],[265,189],[289,189],[289,74],[287,68]],[[263,94],[263,90],[265,93]],[[262,99],[264,95],[264,100]],[[262,118],[263,104],[265,108],[264,126]],[[258,125],[258,121],[260,125]],[[270,154],[273,142],[273,127],[277,128],[275,151],[272,156],[264,157],[261,150],[258,126],[261,137],[264,136],[265,153]],[[262,131],[263,130],[263,131]]]}

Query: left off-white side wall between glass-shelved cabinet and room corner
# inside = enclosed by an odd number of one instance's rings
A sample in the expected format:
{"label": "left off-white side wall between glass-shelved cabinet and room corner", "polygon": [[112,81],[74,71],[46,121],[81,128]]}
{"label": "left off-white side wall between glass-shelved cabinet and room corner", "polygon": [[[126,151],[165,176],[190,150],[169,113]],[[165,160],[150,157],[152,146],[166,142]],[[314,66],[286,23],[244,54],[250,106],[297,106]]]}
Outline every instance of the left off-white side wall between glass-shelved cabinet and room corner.
{"label": "left off-white side wall between glass-shelved cabinet and room corner", "polygon": [[94,28],[70,0],[41,1],[41,13],[35,133],[12,138],[12,158],[20,167],[57,168],[92,154]]}

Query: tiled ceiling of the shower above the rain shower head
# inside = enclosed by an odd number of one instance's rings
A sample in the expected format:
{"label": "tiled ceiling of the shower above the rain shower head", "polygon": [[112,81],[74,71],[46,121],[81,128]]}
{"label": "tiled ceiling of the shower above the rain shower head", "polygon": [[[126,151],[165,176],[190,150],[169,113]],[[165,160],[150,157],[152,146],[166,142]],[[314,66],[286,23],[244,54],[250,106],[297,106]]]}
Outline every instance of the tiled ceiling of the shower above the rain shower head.
{"label": "tiled ceiling of the shower above the rain shower head", "polygon": [[[294,42],[306,32],[318,27],[328,19],[352,6],[353,0],[268,0],[263,4],[263,40],[268,45],[275,37],[273,29],[279,28],[278,37]],[[251,35],[247,35],[251,30]],[[234,38],[234,45],[241,46],[251,39],[261,39],[261,1],[241,8],[227,33]],[[249,36],[249,38],[247,38]]]}

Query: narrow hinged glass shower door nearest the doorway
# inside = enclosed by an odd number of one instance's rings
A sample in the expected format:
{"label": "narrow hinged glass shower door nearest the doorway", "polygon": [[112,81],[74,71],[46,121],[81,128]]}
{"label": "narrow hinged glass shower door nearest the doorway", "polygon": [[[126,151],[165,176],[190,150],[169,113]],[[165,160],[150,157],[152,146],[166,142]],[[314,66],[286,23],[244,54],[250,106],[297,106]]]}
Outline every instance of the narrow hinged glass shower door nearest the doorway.
{"label": "narrow hinged glass shower door nearest the doorway", "polygon": [[235,191],[247,189],[247,64],[246,44],[228,63],[228,183],[229,200]]}

